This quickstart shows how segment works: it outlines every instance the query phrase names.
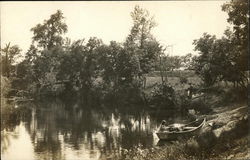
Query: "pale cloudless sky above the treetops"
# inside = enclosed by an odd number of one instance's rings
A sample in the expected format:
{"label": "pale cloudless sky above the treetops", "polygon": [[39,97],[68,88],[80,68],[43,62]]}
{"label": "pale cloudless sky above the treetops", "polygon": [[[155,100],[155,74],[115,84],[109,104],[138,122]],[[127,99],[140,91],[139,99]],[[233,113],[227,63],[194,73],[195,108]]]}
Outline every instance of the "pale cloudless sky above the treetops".
{"label": "pale cloudless sky above the treetops", "polygon": [[221,37],[228,15],[221,10],[227,1],[61,1],[0,2],[1,47],[8,42],[25,53],[32,41],[30,29],[43,23],[59,9],[68,25],[71,40],[97,37],[109,44],[124,42],[132,27],[130,13],[135,5],[147,9],[157,26],[154,37],[163,45],[172,45],[166,54],[194,53],[192,42],[204,32]]}

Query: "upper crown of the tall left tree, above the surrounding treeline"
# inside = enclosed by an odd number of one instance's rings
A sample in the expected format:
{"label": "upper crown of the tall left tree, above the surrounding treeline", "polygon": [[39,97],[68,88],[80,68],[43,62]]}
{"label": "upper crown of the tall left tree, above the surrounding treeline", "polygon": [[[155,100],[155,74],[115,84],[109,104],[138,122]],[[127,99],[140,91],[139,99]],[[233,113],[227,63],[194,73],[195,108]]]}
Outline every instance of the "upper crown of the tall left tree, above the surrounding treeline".
{"label": "upper crown of the tall left tree, above the surrounding treeline", "polygon": [[43,24],[37,24],[31,29],[34,34],[32,37],[33,42],[37,42],[38,47],[42,47],[43,49],[51,49],[56,45],[62,45],[62,34],[67,32],[67,25],[63,20],[63,13],[57,10]]}

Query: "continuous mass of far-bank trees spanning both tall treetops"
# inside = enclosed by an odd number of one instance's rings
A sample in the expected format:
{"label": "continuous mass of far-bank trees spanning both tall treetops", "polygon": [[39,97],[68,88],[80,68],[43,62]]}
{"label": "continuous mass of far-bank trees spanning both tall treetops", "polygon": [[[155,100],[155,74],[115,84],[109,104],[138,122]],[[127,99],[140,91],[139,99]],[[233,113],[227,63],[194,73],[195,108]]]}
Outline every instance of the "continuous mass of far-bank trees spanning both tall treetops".
{"label": "continuous mass of far-bank trees spanning both tall treetops", "polygon": [[22,84],[18,89],[38,94],[52,93],[58,85],[62,86],[58,90],[68,91],[98,89],[98,85],[137,89],[142,74],[155,67],[162,47],[151,35],[156,24],[147,10],[136,6],[131,17],[133,27],[123,44],[105,45],[96,37],[71,43],[63,37],[68,27],[58,10],[31,28],[33,41],[24,61],[16,65],[14,86]]}

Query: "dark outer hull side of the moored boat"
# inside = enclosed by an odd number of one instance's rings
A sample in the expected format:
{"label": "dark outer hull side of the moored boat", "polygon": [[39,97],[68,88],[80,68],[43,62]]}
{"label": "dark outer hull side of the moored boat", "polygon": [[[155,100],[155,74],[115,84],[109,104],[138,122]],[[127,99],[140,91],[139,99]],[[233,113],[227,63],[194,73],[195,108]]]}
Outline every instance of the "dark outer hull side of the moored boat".
{"label": "dark outer hull side of the moored boat", "polygon": [[203,121],[196,128],[188,131],[179,131],[179,132],[157,132],[156,135],[160,140],[177,140],[179,138],[188,138],[195,136],[200,133],[201,129],[205,125],[206,120]]}

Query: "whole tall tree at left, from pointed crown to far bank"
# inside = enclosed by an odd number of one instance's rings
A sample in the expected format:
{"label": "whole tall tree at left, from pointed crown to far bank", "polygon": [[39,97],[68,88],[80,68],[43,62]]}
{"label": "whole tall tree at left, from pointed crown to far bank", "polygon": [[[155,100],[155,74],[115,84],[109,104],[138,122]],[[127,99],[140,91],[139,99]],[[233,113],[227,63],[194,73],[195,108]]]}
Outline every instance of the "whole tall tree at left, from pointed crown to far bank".
{"label": "whole tall tree at left, from pointed crown to far bank", "polygon": [[17,66],[18,77],[23,77],[26,82],[33,82],[33,86],[38,86],[38,89],[52,86],[57,81],[56,75],[65,51],[63,34],[67,32],[67,25],[63,13],[58,10],[42,24],[31,28],[31,31],[33,41],[25,60]]}

